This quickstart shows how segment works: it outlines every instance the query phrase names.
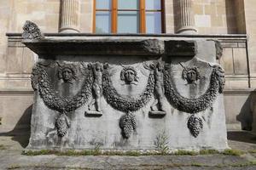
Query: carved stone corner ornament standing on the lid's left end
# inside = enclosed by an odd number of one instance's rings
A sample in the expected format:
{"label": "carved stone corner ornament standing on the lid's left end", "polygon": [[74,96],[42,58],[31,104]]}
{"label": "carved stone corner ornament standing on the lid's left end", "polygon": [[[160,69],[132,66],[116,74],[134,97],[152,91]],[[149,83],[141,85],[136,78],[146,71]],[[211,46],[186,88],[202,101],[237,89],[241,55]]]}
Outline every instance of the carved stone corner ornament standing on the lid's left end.
{"label": "carved stone corner ornament standing on the lid's left end", "polygon": [[23,39],[42,39],[44,35],[35,23],[26,20],[21,37]]}

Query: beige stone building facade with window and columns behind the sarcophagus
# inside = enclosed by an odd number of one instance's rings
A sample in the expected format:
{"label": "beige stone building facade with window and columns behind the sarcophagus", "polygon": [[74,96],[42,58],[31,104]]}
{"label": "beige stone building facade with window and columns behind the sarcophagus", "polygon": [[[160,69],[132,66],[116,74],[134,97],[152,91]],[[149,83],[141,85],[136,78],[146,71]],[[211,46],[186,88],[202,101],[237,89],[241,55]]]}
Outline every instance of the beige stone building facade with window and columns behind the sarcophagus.
{"label": "beige stone building facade with window and columns behind the sarcophagus", "polygon": [[221,43],[229,129],[253,128],[256,87],[254,0],[0,1],[0,132],[30,126],[32,66],[38,55],[21,43],[26,20],[45,37],[207,39]]}

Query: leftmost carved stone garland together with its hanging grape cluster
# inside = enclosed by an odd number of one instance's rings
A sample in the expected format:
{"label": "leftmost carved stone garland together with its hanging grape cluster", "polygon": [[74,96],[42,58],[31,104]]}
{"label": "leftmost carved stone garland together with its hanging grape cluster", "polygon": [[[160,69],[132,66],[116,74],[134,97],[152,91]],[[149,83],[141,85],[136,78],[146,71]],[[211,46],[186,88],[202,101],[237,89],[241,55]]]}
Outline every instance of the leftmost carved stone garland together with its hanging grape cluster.
{"label": "leftmost carved stone garland together with its hanging grape cluster", "polygon": [[[78,94],[74,95],[73,97],[61,98],[61,96],[57,94],[57,92],[55,92],[55,90],[52,88],[53,86],[49,81],[48,73],[44,67],[45,65],[38,63],[33,68],[32,88],[34,90],[38,90],[41,98],[44,100],[45,105],[47,105],[50,109],[60,113],[56,117],[55,127],[58,136],[64,137],[67,134],[67,129],[70,127],[70,121],[66,113],[78,109],[90,99],[91,86],[93,82],[92,73],[91,71],[88,71],[88,76],[84,78],[84,83]],[[68,82],[65,77],[62,78],[64,78],[64,82]],[[53,132],[55,132],[55,130]]]}

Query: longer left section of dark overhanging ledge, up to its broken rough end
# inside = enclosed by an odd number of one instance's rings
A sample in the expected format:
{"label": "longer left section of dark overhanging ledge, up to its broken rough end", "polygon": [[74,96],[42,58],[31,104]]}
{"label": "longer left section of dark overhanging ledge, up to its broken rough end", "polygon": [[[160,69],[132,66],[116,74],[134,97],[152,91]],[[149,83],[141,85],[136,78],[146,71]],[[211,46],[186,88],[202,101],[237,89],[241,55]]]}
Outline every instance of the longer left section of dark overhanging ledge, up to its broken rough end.
{"label": "longer left section of dark overhanging ledge, up to its broken rough end", "polygon": [[36,54],[160,55],[164,42],[157,39],[40,39],[23,43]]}

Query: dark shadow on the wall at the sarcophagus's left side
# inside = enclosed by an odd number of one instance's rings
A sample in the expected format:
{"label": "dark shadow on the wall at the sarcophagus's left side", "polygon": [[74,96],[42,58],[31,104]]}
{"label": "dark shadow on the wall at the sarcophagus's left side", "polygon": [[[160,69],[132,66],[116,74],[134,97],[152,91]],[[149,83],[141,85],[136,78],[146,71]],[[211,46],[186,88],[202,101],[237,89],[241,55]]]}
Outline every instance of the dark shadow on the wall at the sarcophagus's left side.
{"label": "dark shadow on the wall at the sarcophagus's left side", "polygon": [[17,141],[25,148],[30,138],[30,124],[32,116],[32,105],[30,105],[26,111],[20,117],[20,120],[15,125],[12,131],[8,133],[0,133],[0,136],[11,136],[12,140]]}

